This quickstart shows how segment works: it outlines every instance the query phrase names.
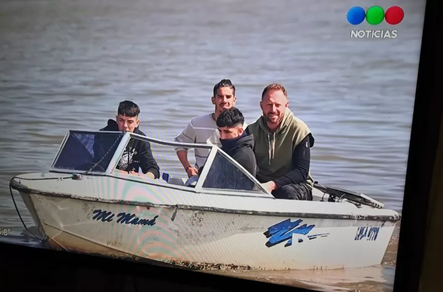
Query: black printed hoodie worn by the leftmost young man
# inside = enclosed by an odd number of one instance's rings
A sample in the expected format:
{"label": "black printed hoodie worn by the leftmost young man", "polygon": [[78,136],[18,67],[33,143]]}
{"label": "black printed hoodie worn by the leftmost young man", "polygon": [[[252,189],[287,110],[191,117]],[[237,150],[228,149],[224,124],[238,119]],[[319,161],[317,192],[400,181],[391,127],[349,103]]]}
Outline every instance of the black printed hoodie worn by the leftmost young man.
{"label": "black printed hoodie worn by the leftmost young man", "polygon": [[[109,119],[108,125],[104,128],[101,128],[100,131],[119,131],[117,122]],[[138,127],[134,129],[134,133],[146,136],[142,131],[138,129]],[[105,142],[105,144],[107,145],[108,143]],[[109,145],[109,147],[110,146],[111,144]],[[98,154],[99,156],[105,155],[105,153],[107,152],[105,148],[106,147],[103,147],[103,139],[100,143],[97,143],[97,141],[95,141],[95,154]],[[98,159],[100,158],[101,157],[98,157]],[[138,172],[138,169],[141,168],[141,171],[144,174],[146,174],[147,172],[151,172],[152,174],[154,174],[155,178],[160,177],[160,168],[157,164],[157,161],[152,155],[150,142],[136,138],[131,138],[129,140],[116,168],[128,172]]]}

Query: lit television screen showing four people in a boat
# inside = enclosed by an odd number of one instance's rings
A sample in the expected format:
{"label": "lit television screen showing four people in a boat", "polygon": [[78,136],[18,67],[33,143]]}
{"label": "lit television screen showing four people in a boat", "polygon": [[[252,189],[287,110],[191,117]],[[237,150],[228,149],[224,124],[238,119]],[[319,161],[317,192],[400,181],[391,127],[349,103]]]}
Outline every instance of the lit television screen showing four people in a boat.
{"label": "lit television screen showing four people in a boat", "polygon": [[0,240],[392,290],[424,9],[4,1]]}

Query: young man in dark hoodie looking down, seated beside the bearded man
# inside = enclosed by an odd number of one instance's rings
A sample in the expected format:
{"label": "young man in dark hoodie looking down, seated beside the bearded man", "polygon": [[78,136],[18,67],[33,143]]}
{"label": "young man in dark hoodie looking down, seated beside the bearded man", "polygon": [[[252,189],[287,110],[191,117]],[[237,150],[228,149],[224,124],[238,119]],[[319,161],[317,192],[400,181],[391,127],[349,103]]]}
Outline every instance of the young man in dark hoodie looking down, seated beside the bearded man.
{"label": "young man in dark hoodie looking down, seated beside the bearded man", "polygon": [[220,113],[216,124],[220,132],[221,150],[255,177],[257,162],[253,151],[254,139],[244,131],[244,122],[242,112],[232,107]]}

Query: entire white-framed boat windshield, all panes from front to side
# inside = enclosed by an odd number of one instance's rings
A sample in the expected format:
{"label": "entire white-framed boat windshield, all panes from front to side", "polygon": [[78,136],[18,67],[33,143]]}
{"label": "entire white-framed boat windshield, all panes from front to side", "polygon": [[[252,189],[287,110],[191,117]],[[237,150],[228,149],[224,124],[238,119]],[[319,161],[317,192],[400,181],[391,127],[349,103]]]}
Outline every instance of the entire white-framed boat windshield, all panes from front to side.
{"label": "entire white-framed boat windshield, all panes from front to side", "polygon": [[[188,175],[177,157],[187,151],[191,166],[200,159],[198,175]],[[253,191],[264,193],[260,184],[236,161],[210,144],[164,141],[128,132],[70,130],[57,153],[51,171],[69,173],[117,173],[143,176],[186,188],[206,191]]]}

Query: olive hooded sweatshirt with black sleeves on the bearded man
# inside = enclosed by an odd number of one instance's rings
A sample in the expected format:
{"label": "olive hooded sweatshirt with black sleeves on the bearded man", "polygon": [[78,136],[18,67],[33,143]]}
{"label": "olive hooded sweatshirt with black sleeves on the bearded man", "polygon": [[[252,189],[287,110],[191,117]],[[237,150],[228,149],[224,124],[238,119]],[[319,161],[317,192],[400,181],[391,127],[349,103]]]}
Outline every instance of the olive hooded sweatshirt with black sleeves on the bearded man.
{"label": "olive hooded sweatshirt with black sleeves on the bearded man", "polygon": [[[263,116],[249,124],[246,131],[254,137],[258,181],[264,183],[272,180],[278,188],[289,183],[303,182],[313,185],[314,180],[309,169],[309,150],[314,145],[314,137],[306,123],[294,116],[289,108],[286,109],[283,120],[274,133],[269,131]],[[303,155],[307,151],[306,170],[299,171],[299,153]],[[294,174],[294,171],[299,173]]]}

